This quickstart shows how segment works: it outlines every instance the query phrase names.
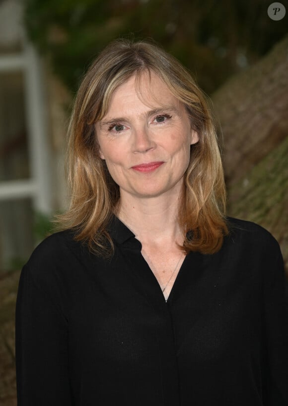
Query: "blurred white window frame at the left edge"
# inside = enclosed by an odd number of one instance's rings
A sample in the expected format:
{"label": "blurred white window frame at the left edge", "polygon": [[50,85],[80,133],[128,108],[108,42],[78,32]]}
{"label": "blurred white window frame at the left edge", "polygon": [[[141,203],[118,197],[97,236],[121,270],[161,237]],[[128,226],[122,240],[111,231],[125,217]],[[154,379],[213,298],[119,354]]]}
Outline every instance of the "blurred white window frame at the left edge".
{"label": "blurred white window frame at the left edge", "polygon": [[23,72],[25,115],[31,177],[0,182],[0,201],[30,197],[37,212],[52,212],[51,151],[43,67],[33,46],[25,41],[18,54],[0,55],[1,73]]}

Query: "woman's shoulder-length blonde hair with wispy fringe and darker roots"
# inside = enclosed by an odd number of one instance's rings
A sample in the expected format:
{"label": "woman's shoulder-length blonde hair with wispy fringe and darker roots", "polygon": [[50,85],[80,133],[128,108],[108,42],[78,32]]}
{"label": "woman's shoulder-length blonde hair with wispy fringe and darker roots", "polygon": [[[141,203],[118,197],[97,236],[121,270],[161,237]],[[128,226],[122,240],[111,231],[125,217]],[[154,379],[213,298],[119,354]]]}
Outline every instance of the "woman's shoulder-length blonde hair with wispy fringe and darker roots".
{"label": "woman's shoulder-length blonde hair with wispy fringe and darker roots", "polygon": [[[69,210],[58,217],[62,229],[96,254],[114,249],[107,226],[120,198],[119,186],[100,159],[95,123],[106,114],[115,89],[132,76],[156,74],[187,109],[199,142],[191,146],[184,175],[178,221],[186,253],[214,253],[228,233],[225,185],[215,127],[208,101],[189,72],[159,46],[117,40],[108,45],[89,68],[77,92],[68,136]],[[180,209],[181,208],[181,209]]]}

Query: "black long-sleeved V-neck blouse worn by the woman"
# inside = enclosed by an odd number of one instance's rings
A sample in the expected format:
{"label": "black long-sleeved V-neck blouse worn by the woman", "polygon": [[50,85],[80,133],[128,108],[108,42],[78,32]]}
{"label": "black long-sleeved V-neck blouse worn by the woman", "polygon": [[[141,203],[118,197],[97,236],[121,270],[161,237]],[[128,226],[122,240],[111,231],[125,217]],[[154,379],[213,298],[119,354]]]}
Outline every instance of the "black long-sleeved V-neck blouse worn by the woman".
{"label": "black long-sleeved V-neck blouse worn by the woman", "polygon": [[278,243],[235,219],[188,254],[167,303],[118,220],[105,260],[52,235],[16,306],[18,406],[288,406],[288,306]]}

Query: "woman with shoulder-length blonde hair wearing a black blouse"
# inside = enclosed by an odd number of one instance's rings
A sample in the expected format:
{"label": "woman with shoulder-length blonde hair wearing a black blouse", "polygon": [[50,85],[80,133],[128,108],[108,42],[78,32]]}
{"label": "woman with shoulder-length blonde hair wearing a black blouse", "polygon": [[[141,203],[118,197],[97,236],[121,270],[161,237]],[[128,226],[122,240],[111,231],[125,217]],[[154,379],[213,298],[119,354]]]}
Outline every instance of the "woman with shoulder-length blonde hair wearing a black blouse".
{"label": "woman with shoulder-length blonde hair wearing a black blouse", "polygon": [[120,40],[82,81],[71,207],[24,266],[18,405],[288,405],[279,245],[225,217],[210,108],[162,49]]}

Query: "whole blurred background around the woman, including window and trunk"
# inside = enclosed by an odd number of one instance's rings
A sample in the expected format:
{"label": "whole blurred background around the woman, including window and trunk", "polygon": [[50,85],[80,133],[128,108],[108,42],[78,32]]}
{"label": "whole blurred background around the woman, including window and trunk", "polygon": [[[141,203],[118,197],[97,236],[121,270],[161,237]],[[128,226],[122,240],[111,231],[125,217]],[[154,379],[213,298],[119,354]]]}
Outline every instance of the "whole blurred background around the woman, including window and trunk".
{"label": "whole blurred background around the woman, including window and trunk", "polygon": [[[19,272],[65,210],[73,96],[100,50],[153,38],[212,99],[228,214],[255,221],[288,263],[288,14],[265,0],[0,0],[0,405],[16,405]],[[288,11],[287,0],[282,1]]]}

